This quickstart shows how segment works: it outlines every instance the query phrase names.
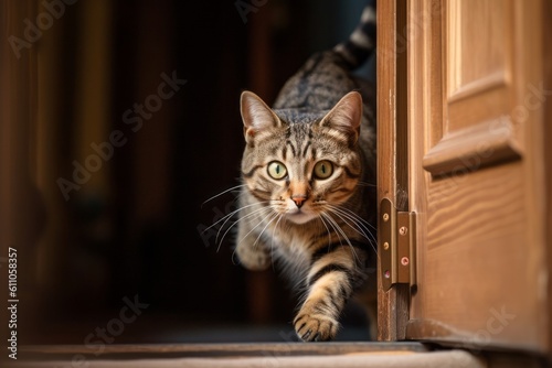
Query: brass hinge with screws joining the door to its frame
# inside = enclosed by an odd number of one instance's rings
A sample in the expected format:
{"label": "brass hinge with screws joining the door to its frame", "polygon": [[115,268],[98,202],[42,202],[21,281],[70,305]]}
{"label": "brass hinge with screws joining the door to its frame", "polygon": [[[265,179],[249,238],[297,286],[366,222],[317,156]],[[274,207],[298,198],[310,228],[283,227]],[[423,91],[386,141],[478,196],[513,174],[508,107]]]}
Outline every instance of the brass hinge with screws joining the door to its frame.
{"label": "brass hinge with screws joining the door to its frame", "polygon": [[396,283],[416,284],[416,214],[397,212],[383,198],[379,218],[380,272],[385,291]]}

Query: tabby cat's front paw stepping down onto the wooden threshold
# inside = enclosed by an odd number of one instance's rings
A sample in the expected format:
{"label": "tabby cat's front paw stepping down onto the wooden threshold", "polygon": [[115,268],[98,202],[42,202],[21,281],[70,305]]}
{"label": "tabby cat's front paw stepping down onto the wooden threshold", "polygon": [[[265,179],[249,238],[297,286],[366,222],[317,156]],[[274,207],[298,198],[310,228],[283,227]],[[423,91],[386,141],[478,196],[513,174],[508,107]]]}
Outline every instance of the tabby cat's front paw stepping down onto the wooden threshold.
{"label": "tabby cat's front paw stepping down onto the wooden threshold", "polygon": [[323,314],[301,314],[294,321],[295,332],[304,342],[328,342],[336,337],[339,323]]}

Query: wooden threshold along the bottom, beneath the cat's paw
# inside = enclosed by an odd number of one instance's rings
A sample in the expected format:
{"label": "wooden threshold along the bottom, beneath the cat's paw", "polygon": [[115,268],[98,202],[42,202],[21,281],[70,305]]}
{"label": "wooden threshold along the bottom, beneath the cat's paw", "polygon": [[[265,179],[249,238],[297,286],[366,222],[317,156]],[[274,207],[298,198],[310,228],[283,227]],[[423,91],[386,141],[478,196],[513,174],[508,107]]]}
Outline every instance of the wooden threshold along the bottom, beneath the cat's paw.
{"label": "wooden threshold along the bottom, beneath the cat's paw", "polygon": [[429,351],[418,343],[276,343],[26,346],[12,367],[487,367],[463,350]]}

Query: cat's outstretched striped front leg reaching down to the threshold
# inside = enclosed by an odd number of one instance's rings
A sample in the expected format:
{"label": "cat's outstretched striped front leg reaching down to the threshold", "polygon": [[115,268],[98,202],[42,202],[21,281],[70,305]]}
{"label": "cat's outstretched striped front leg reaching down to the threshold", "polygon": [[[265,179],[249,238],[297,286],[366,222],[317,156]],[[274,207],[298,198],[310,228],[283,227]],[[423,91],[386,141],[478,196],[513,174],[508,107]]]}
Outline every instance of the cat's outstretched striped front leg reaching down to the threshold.
{"label": "cat's outstretched striped front leg reaching down to the threshold", "polygon": [[359,268],[363,260],[358,249],[343,245],[314,261],[306,280],[305,302],[294,320],[300,339],[323,342],[336,337],[339,316],[353,285],[364,278]]}

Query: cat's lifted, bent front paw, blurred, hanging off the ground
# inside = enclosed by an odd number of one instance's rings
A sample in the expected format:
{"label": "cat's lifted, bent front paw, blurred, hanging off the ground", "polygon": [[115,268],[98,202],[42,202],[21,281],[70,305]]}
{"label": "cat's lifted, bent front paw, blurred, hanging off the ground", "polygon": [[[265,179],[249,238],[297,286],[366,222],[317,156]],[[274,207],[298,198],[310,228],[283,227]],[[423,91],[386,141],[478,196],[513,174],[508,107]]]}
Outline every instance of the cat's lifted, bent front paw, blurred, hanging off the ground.
{"label": "cat's lifted, bent front paw, blurred, hanging off the ground", "polygon": [[242,224],[237,229],[235,252],[240,262],[252,271],[266,270],[272,262],[269,249],[259,235],[246,224]]}

